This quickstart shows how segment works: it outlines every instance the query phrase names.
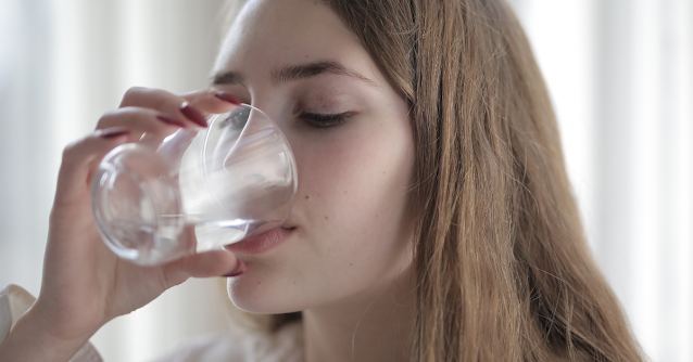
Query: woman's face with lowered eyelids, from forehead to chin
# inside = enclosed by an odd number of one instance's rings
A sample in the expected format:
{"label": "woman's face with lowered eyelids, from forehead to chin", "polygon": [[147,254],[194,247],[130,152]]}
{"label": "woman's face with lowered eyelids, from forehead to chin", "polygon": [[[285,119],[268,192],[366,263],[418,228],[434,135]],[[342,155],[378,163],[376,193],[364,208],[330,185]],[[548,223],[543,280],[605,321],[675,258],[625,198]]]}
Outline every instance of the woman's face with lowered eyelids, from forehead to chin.
{"label": "woman's face with lowered eyelids, from forehead to chin", "polygon": [[230,246],[248,266],[229,279],[234,302],[262,313],[336,305],[410,270],[407,106],[341,18],[320,1],[251,1],[215,72],[215,88],[279,125],[299,171],[277,240]]}

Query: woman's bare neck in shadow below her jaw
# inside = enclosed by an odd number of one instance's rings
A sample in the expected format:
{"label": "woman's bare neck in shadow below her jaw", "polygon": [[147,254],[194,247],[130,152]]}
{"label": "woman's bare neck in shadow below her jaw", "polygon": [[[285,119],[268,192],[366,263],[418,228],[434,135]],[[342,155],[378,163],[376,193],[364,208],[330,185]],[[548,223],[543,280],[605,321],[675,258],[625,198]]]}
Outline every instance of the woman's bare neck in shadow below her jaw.
{"label": "woman's bare neck in shadow below her jaw", "polygon": [[413,273],[406,270],[350,300],[305,310],[306,362],[407,361],[414,305]]}

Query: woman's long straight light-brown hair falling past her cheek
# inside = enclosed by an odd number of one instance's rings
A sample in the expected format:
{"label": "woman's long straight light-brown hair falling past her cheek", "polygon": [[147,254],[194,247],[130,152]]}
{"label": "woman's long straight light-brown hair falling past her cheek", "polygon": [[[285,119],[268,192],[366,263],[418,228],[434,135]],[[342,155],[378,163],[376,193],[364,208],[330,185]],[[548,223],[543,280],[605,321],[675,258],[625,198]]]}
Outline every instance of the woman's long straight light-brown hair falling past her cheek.
{"label": "woman's long straight light-brown hair falling past her cheek", "polygon": [[413,360],[642,361],[584,242],[549,94],[508,5],[324,2],[411,107]]}

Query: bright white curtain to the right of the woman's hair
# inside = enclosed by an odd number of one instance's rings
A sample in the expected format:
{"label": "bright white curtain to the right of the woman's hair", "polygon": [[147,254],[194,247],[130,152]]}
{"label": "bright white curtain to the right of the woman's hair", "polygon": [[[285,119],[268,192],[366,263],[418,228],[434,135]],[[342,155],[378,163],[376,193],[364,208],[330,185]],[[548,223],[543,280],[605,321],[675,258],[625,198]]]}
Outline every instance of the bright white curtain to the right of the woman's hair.
{"label": "bright white curtain to the right of the woman's hair", "polygon": [[514,0],[600,267],[654,361],[693,361],[693,1]]}

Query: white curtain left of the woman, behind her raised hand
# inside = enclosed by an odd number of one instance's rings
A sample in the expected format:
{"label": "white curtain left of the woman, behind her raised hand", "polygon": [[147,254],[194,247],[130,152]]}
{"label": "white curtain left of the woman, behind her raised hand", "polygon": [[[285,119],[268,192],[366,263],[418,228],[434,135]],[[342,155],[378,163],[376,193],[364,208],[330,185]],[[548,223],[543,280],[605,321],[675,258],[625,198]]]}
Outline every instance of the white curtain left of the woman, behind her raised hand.
{"label": "white curtain left of the woman, behind her raised hand", "polygon": [[[0,288],[38,295],[62,148],[131,86],[206,86],[224,0],[0,0]],[[109,362],[226,327],[224,281],[191,280],[106,324]]]}

